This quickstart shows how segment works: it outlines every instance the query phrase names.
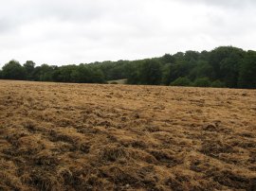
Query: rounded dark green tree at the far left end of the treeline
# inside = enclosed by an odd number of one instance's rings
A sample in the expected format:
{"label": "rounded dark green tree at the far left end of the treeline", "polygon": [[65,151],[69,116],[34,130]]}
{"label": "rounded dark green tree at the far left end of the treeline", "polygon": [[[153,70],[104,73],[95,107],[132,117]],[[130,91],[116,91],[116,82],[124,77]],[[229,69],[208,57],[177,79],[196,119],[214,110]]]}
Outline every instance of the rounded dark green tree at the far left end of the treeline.
{"label": "rounded dark green tree at the far left end of the treeline", "polygon": [[26,71],[18,61],[9,61],[3,66],[2,77],[6,79],[25,79]]}

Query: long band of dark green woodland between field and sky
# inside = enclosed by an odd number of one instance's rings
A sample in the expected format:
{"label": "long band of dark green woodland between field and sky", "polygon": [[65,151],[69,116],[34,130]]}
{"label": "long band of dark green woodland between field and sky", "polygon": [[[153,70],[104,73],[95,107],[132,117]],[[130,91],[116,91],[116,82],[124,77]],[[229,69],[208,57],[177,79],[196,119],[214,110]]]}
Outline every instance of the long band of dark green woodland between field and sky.
{"label": "long band of dark green woodland between field and sky", "polygon": [[2,79],[106,83],[127,79],[128,84],[194,87],[256,88],[256,51],[220,46],[211,51],[186,51],[139,61],[102,61],[64,66],[33,61],[9,61]]}

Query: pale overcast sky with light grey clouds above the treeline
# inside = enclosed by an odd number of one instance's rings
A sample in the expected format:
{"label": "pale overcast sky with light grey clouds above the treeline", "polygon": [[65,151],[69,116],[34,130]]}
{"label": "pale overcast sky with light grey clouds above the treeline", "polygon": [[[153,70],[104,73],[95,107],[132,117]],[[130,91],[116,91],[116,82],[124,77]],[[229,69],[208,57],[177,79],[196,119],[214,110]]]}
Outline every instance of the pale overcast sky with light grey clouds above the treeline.
{"label": "pale overcast sky with light grey clouds above the treeline", "polygon": [[0,67],[153,58],[232,45],[256,49],[255,0],[8,0]]}

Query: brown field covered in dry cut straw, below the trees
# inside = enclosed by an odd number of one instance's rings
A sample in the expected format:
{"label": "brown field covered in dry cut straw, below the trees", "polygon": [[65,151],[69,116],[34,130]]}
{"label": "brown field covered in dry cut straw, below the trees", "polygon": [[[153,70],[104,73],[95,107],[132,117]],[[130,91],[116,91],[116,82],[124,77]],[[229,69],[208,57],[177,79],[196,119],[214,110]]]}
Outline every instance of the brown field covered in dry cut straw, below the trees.
{"label": "brown field covered in dry cut straw, below the trees", "polygon": [[0,190],[256,190],[256,91],[1,80]]}

